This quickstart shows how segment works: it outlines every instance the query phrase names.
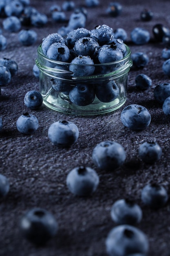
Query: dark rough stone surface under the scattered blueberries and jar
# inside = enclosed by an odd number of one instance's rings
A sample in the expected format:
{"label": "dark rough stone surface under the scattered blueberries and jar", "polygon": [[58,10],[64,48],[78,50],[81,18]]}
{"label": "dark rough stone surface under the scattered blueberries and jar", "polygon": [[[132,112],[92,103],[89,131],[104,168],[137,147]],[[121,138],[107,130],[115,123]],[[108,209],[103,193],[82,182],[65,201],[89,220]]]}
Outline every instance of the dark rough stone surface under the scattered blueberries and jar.
{"label": "dark rough stone surface under the scattered blueberries and jar", "polygon": [[[141,189],[150,181],[162,184],[169,192],[170,186],[170,119],[163,114],[162,106],[153,97],[153,90],[160,82],[169,82],[163,74],[162,43],[153,39],[152,27],[156,23],[170,26],[169,0],[120,0],[121,16],[105,14],[109,0],[100,0],[99,7],[87,8],[87,29],[106,24],[116,29],[124,28],[132,53],[148,54],[149,63],[144,69],[130,70],[128,97],[125,105],[116,112],[95,117],[77,117],[55,112],[42,106],[31,111],[39,120],[38,130],[31,136],[22,135],[16,129],[16,121],[24,106],[24,95],[29,90],[38,90],[39,82],[33,76],[36,50],[42,38],[56,32],[63,24],[51,21],[49,7],[62,4],[62,0],[31,0],[31,5],[45,13],[49,22],[43,28],[33,28],[38,40],[31,47],[21,46],[18,33],[3,31],[7,37],[7,49],[0,57],[12,58],[18,63],[18,75],[2,87],[0,116],[3,130],[0,133],[0,173],[10,181],[7,197],[0,201],[0,255],[2,256],[106,256],[105,239],[115,223],[110,218],[110,208],[115,200],[131,196],[142,210],[143,219],[137,227],[148,236],[149,256],[170,255],[170,203],[158,210],[151,210],[141,202]],[[84,1],[75,0],[76,6]],[[140,20],[140,12],[151,9],[154,18],[150,22]],[[67,17],[71,12],[66,13]],[[0,25],[2,27],[2,18]],[[67,23],[64,23],[67,24]],[[130,31],[144,27],[150,31],[151,42],[137,46],[130,42]],[[146,91],[135,89],[135,76],[145,73],[152,79],[152,87]],[[132,131],[120,120],[121,110],[138,103],[150,111],[152,120],[146,130]],[[79,128],[79,139],[71,148],[57,148],[48,139],[49,126],[58,120],[73,121]],[[97,143],[113,140],[124,146],[127,154],[125,164],[113,172],[100,171],[92,162],[92,150]],[[144,164],[138,157],[138,148],[144,141],[156,140],[162,147],[161,160]],[[84,164],[95,168],[100,183],[90,198],[78,198],[66,187],[66,175],[72,168]],[[33,207],[45,208],[54,214],[59,224],[56,238],[43,247],[35,247],[24,240],[18,228],[20,217]]]}

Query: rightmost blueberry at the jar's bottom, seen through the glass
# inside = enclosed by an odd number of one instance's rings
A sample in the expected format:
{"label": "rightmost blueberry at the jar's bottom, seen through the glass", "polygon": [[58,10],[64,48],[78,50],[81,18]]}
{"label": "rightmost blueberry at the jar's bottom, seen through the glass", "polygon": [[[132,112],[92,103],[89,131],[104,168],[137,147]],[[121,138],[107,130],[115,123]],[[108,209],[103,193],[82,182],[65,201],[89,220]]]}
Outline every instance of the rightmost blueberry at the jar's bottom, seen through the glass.
{"label": "rightmost blueberry at the jar's bottom, seen through the glass", "polygon": [[114,81],[99,84],[95,89],[96,97],[102,102],[114,101],[119,96],[119,87]]}

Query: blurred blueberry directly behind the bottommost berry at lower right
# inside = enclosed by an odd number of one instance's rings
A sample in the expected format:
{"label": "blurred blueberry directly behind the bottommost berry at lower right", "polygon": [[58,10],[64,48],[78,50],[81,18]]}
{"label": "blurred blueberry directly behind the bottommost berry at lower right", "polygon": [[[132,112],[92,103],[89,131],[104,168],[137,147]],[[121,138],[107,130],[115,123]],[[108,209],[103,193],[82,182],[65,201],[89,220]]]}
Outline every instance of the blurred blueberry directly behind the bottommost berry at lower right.
{"label": "blurred blueberry directly behind the bottommost berry at lower right", "polygon": [[118,225],[135,225],[141,221],[142,210],[138,204],[129,199],[115,201],[111,208],[111,218]]}

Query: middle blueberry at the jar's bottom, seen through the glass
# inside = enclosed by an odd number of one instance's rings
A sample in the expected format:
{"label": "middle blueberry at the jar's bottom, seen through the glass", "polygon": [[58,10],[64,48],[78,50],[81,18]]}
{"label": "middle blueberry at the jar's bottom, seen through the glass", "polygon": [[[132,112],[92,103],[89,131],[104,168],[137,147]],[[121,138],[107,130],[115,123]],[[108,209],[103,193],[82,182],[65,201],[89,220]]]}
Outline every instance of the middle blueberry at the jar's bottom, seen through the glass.
{"label": "middle blueberry at the jar's bottom, seen through the glass", "polygon": [[69,93],[69,98],[75,105],[87,106],[95,99],[95,89],[92,85],[75,85]]}

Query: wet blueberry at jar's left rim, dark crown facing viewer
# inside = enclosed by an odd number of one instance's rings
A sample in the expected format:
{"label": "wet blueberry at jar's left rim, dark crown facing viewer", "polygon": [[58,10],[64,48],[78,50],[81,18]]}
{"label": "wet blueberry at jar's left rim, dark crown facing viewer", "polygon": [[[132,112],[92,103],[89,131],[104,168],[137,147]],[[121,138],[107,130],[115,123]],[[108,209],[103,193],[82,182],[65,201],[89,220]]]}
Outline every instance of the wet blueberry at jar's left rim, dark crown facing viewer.
{"label": "wet blueberry at jar's left rim, dark crown facing viewer", "polygon": [[53,43],[46,53],[47,57],[55,61],[67,62],[70,58],[68,47],[62,43]]}

